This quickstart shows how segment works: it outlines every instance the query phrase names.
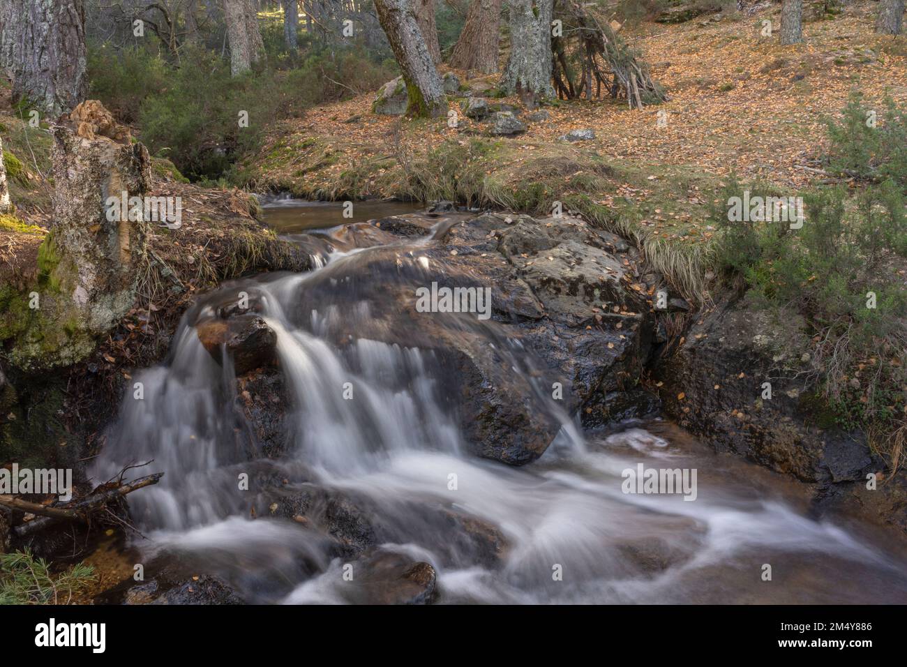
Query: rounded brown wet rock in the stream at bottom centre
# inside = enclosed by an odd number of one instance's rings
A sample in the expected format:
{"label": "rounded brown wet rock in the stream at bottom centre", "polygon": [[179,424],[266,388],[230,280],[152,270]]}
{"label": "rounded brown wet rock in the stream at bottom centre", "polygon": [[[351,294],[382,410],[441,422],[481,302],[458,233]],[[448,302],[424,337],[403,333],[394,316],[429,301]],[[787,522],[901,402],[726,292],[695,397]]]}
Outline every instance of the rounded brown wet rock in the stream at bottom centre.
{"label": "rounded brown wet rock in the stream at bottom centre", "polygon": [[434,598],[434,567],[404,554],[378,551],[353,564],[353,573],[353,581],[346,587],[353,603],[427,604]]}

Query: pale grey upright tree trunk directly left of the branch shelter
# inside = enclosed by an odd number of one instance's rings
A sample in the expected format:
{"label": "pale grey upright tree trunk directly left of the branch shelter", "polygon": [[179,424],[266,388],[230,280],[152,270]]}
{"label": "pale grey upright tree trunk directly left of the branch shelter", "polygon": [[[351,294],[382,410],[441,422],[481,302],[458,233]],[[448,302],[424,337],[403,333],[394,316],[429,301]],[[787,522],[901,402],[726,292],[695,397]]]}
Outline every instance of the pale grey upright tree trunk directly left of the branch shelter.
{"label": "pale grey upright tree trunk directly left of the branch shelter", "polygon": [[502,87],[518,93],[534,108],[553,97],[551,86],[551,15],[553,0],[510,0],[511,54],[504,68]]}

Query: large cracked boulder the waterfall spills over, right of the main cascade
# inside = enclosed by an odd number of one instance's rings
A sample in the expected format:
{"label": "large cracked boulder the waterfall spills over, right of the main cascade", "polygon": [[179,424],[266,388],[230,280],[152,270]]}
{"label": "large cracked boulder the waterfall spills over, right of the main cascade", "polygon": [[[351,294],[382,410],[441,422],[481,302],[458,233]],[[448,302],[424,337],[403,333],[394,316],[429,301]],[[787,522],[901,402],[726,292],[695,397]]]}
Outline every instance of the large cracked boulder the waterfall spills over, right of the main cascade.
{"label": "large cracked boulder the waterfall spills over, right of the main cascade", "polygon": [[[649,411],[650,397],[629,391],[639,383],[654,324],[636,250],[569,216],[451,213],[433,222],[429,242],[414,240],[415,223],[383,225],[397,242],[312,275],[299,312],[326,299],[340,312],[368,302],[356,337],[430,352],[438,395],[478,456],[522,465],[541,456],[571,413],[605,424],[639,416],[635,402]],[[388,274],[394,280],[375,280]],[[351,289],[337,290],[338,281]],[[489,289],[490,308],[483,319],[420,311],[416,290],[433,283]],[[342,347],[350,326],[340,319],[323,335]]]}

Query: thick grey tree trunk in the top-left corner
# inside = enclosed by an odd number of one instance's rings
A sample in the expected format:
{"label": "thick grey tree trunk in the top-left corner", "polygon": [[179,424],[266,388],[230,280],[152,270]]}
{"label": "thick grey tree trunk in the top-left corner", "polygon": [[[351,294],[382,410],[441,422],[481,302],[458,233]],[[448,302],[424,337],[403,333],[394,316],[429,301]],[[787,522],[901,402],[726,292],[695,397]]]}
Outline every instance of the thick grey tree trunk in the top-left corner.
{"label": "thick grey tree trunk in the top-left corner", "polygon": [[52,117],[72,111],[88,91],[83,0],[0,0],[0,66],[13,100]]}

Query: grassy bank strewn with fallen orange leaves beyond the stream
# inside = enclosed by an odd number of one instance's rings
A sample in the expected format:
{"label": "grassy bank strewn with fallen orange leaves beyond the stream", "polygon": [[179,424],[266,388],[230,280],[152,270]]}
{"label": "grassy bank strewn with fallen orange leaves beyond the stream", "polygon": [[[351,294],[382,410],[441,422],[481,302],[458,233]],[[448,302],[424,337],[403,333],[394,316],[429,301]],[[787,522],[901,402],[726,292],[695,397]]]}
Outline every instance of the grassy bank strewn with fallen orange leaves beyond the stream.
{"label": "grassy bank strewn with fallen orange leaves beyond the stream", "polygon": [[[562,201],[636,240],[654,269],[702,301],[714,229],[708,209],[722,179],[796,191],[825,178],[825,119],[854,91],[870,104],[886,94],[907,101],[907,41],[873,33],[876,9],[854,4],[833,20],[808,22],[805,44],[795,46],[781,46],[776,30],[760,36],[763,20],[779,25],[774,6],[625,28],[620,34],[650,64],[667,103],[631,110],[610,99],[561,101],[545,107],[548,120],[527,122],[512,138],[483,136],[462,114],[456,128],[445,118],[376,115],[375,93],[366,93],[270,128],[244,179],[258,191],[330,200],[451,199],[535,213]],[[467,88],[491,87],[486,95],[499,78],[455,74]],[[449,102],[456,109],[460,100]],[[522,107],[515,97],[488,102]],[[592,141],[559,140],[587,128]]]}

